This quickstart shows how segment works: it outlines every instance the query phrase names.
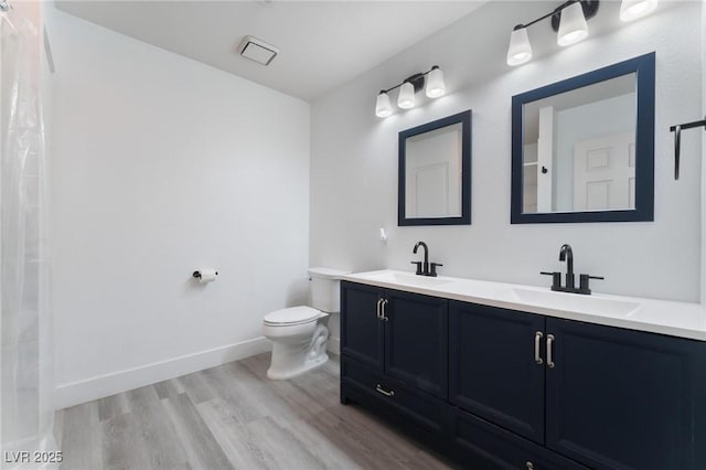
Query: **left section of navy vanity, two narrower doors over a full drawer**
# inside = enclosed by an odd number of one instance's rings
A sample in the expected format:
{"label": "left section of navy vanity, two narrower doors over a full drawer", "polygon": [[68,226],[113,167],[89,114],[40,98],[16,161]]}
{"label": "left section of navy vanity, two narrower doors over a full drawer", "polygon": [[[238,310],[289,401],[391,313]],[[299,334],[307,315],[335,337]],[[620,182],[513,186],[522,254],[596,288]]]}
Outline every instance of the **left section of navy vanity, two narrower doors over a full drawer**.
{"label": "left section of navy vanity, two narrower doors over a full drawer", "polygon": [[448,301],[341,282],[341,402],[402,416],[441,435],[448,425]]}

